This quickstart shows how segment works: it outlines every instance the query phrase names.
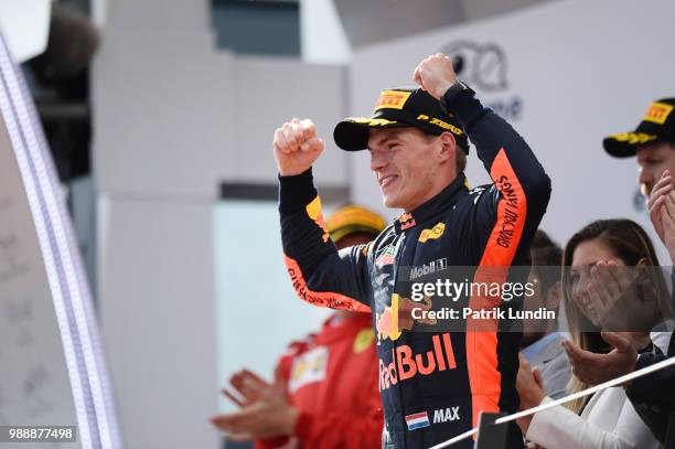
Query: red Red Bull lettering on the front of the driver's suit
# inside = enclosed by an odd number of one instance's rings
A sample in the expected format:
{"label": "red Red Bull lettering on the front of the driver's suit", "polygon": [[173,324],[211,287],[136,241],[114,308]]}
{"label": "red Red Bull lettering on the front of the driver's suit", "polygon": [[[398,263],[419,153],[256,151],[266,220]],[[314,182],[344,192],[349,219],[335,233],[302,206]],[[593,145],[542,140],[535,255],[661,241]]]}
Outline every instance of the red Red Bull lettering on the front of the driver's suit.
{"label": "red Red Bull lettering on the front of the driver's suit", "polygon": [[388,365],[379,360],[379,391],[385,391],[399,382],[417,375],[428,376],[436,371],[454,370],[454,352],[449,333],[431,335],[433,350],[424,354],[415,354],[413,349],[400,345],[392,349],[392,363]]}

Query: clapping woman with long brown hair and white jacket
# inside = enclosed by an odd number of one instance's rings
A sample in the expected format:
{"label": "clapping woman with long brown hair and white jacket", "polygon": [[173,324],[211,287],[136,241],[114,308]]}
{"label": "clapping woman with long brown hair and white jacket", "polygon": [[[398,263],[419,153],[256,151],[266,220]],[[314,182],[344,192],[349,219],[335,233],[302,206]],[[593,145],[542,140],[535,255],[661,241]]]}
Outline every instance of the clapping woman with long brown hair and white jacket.
{"label": "clapping woman with long brown hair and white jacket", "polygon": [[[630,220],[601,220],[585,226],[568,242],[562,285],[571,340],[586,351],[611,350],[611,335],[621,331],[636,350],[651,344],[650,330],[671,317],[658,260],[649,236]],[[664,335],[667,339],[667,335]],[[588,388],[576,376],[568,394]],[[521,408],[550,403],[540,375],[521,357],[516,383]],[[658,441],[642,421],[623,388],[608,388],[519,420],[532,443],[546,449],[650,449]]]}

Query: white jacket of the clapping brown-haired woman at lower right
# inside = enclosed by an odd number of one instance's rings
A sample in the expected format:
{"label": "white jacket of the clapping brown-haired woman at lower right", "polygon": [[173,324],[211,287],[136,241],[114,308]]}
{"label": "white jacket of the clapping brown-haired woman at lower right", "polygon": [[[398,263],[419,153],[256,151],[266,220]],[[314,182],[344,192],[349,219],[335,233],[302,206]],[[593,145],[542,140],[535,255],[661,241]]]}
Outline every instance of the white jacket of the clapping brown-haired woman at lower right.
{"label": "white jacket of the clapping brown-haired woman at lower right", "polygon": [[658,448],[621,387],[596,393],[581,416],[560,405],[535,414],[525,438],[546,449]]}

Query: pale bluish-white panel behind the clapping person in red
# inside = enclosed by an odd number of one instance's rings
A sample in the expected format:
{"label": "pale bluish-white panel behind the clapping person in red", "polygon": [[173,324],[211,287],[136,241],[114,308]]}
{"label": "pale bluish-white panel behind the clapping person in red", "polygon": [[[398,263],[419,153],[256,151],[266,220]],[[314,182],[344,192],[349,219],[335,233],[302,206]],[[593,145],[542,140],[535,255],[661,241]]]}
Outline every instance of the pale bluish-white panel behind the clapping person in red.
{"label": "pale bluish-white panel behind the clapping person in red", "polygon": [[[291,341],[331,313],[300,300],[283,265],[276,202],[221,201],[214,211],[218,382],[240,368],[274,381]],[[221,397],[219,409],[234,410]]]}

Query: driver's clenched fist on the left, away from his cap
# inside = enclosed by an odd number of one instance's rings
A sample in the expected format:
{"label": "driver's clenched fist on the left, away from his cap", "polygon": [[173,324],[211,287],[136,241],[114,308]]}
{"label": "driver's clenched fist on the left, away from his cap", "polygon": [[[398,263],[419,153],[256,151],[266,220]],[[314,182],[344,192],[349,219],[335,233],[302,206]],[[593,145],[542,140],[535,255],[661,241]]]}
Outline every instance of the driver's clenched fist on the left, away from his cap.
{"label": "driver's clenched fist on the left, away from his cap", "polygon": [[323,151],[323,140],[310,119],[293,118],[277,128],[272,147],[279,174],[291,177],[312,167]]}

